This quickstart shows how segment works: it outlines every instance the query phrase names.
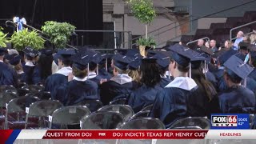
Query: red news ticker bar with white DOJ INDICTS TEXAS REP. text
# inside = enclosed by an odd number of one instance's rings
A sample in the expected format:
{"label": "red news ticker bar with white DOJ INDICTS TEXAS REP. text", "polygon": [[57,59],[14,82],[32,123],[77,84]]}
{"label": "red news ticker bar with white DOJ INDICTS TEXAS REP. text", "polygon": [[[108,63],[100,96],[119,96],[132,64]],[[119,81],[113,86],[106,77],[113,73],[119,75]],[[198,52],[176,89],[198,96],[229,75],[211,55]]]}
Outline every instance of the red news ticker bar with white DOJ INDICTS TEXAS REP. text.
{"label": "red news ticker bar with white DOJ INDICTS TEXAS REP. text", "polygon": [[47,130],[43,139],[203,139],[208,130]]}

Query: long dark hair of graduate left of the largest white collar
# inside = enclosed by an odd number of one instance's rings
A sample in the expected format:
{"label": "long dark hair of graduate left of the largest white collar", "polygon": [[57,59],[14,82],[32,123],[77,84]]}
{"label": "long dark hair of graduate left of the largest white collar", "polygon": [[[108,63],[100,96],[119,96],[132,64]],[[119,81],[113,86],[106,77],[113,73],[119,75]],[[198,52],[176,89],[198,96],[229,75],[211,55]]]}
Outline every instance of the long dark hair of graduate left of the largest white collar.
{"label": "long dark hair of graduate left of the largest white collar", "polygon": [[154,62],[145,62],[142,61],[142,65],[140,67],[142,72],[142,80],[141,82],[144,83],[146,86],[153,87],[158,82],[161,81],[158,64]]}

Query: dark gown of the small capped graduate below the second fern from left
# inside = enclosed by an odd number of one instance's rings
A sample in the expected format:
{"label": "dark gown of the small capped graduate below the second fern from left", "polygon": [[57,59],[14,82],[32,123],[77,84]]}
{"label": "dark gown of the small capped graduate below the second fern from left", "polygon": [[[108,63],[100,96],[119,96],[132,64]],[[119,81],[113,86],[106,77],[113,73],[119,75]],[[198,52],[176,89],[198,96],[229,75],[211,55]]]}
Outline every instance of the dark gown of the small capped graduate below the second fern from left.
{"label": "dark gown of the small capped graduate below the second fern from left", "polygon": [[[32,62],[31,62],[32,63]],[[24,75],[22,78],[28,85],[36,85],[41,82],[40,71],[38,66],[27,65],[23,66]]]}

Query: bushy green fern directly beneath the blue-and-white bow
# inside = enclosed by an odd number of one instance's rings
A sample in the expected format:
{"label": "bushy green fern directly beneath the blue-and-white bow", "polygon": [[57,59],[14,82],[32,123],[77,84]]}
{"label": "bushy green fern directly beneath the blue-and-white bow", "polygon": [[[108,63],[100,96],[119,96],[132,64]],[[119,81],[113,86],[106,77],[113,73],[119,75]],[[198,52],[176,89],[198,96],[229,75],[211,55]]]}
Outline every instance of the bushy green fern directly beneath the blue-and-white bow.
{"label": "bushy green fern directly beneath the blue-and-white bow", "polygon": [[14,31],[10,42],[13,43],[16,50],[23,50],[26,46],[30,46],[35,50],[40,50],[44,47],[45,40],[33,30],[24,29],[22,31]]}

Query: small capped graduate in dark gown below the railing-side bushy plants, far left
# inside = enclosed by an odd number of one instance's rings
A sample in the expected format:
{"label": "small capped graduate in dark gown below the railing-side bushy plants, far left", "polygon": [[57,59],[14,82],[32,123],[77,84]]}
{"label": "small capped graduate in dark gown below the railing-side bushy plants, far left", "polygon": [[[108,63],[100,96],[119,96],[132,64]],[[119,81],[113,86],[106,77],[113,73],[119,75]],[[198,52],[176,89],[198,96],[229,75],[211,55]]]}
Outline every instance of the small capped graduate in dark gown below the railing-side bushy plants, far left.
{"label": "small capped graduate in dark gown below the railing-side bushy plants, far left", "polygon": [[22,82],[26,82],[28,85],[35,85],[42,82],[40,77],[40,70],[36,64],[36,57],[38,56],[38,50],[34,50],[31,47],[26,47],[24,50],[25,65],[23,66],[24,77],[21,78]]}

